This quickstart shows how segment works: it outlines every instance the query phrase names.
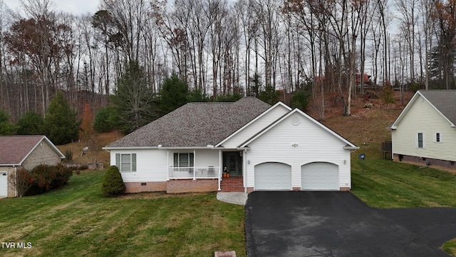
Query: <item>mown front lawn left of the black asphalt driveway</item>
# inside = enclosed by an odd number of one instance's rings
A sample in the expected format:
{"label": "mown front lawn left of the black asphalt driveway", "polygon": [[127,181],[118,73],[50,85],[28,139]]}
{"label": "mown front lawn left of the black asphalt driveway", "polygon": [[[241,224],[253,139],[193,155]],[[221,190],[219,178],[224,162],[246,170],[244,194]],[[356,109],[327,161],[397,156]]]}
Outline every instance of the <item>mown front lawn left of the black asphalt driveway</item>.
{"label": "mown front lawn left of the black asphalt driveway", "polygon": [[74,175],[68,186],[0,201],[0,256],[245,256],[244,208],[215,193],[105,198],[104,171]]}

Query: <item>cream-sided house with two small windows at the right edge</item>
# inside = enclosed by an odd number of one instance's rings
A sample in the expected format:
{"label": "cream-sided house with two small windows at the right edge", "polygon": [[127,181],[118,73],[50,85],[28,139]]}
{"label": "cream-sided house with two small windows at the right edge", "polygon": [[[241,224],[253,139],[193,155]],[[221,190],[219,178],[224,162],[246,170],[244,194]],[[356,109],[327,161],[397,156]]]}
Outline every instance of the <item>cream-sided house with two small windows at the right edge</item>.
{"label": "cream-sided house with two small windows at the right edge", "polygon": [[456,90],[420,90],[389,127],[395,161],[456,170]]}

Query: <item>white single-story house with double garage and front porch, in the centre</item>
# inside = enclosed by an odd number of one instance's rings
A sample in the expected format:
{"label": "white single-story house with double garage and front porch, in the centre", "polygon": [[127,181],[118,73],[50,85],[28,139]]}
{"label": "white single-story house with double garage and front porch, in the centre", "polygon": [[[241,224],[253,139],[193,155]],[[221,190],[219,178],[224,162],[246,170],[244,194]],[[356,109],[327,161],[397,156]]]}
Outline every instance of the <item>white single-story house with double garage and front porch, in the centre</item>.
{"label": "white single-story house with double garage and front porch, in the centre", "polygon": [[347,191],[358,147],[299,109],[244,97],[186,104],[104,149],[127,192],[217,191],[234,179],[250,193]]}

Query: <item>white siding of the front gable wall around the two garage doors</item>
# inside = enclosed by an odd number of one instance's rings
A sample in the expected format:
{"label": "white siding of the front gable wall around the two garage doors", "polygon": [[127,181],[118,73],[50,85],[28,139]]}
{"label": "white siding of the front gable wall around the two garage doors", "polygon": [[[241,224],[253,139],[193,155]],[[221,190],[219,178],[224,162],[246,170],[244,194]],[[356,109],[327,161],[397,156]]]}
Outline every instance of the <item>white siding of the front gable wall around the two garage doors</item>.
{"label": "white siding of the front gable wall around the two garage doors", "polygon": [[[294,118],[295,117],[295,118]],[[297,118],[296,118],[297,117]],[[291,124],[293,120],[296,124]],[[291,166],[293,188],[301,188],[301,166],[312,162],[330,162],[339,168],[338,186],[351,188],[350,151],[346,143],[300,114],[289,116],[274,128],[249,143],[247,186],[254,187],[254,166],[265,161]]]}

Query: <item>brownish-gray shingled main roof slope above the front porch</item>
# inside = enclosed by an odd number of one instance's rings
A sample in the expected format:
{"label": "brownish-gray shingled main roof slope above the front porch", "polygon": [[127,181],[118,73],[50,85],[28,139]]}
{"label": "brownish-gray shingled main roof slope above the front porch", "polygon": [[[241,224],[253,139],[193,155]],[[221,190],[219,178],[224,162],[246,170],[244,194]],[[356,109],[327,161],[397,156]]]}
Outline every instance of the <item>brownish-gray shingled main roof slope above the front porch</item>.
{"label": "brownish-gray shingled main roof slope above the front porch", "polygon": [[244,97],[234,103],[185,104],[106,148],[215,145],[269,107],[254,97]]}

